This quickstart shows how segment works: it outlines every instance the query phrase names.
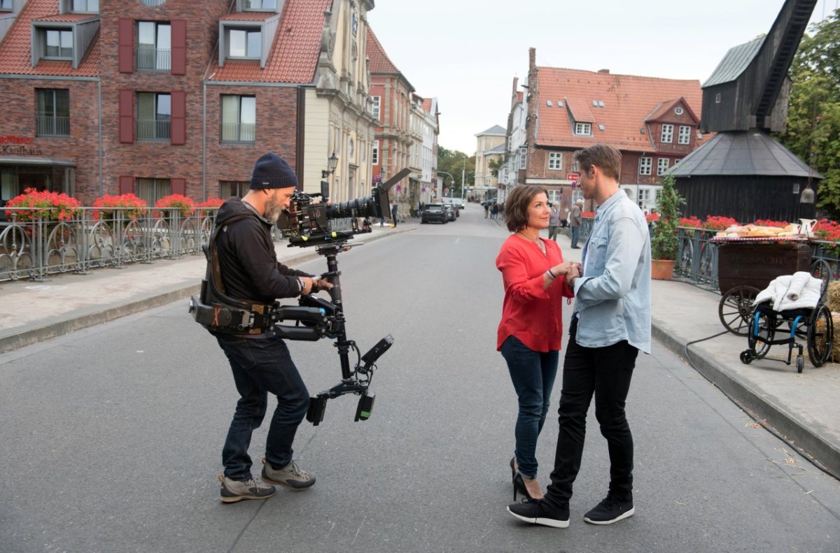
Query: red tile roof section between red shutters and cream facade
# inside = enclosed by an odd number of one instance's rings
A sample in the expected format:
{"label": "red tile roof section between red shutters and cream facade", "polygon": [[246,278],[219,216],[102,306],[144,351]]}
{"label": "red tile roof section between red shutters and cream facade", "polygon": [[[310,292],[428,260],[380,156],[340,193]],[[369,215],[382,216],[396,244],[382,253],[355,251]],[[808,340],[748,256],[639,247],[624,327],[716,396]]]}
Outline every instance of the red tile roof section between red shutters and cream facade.
{"label": "red tile roof section between red shutters and cream facade", "polygon": [[[274,44],[265,68],[259,61],[218,62],[212,81],[309,83],[315,80],[321,52],[324,11],[332,0],[287,0],[277,25]],[[242,20],[242,13],[234,19]],[[261,14],[260,14],[261,15]],[[268,14],[271,15],[271,14]]]}

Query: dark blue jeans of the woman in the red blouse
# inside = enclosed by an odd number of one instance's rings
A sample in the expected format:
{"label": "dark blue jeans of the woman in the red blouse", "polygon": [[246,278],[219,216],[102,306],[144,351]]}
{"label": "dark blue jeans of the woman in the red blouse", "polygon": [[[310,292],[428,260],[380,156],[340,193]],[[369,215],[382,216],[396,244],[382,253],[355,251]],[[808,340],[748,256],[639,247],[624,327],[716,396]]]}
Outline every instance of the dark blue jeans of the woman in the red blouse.
{"label": "dark blue jeans of the woman in the red blouse", "polygon": [[537,477],[537,438],[549,413],[551,389],[557,376],[559,353],[534,352],[516,336],[507,336],[501,344],[501,355],[507,361],[513,389],[519,398],[519,416],[514,434],[517,439],[519,472],[523,477]]}

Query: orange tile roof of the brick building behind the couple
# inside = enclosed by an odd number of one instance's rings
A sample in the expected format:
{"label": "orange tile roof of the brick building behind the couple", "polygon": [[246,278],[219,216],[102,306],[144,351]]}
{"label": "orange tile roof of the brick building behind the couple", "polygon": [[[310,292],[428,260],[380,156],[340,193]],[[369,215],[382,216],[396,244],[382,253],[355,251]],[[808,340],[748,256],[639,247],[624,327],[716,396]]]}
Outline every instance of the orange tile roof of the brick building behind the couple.
{"label": "orange tile roof of the brick building behind the couple", "polygon": [[[690,111],[700,117],[700,81],[554,67],[538,67],[537,81],[537,143],[542,146],[585,148],[593,143],[609,143],[618,149],[649,152],[654,147],[648,132],[639,133],[639,128],[659,111],[660,104],[683,97]],[[546,105],[547,100],[551,100],[552,107]],[[593,100],[604,102],[604,107],[594,107]],[[564,107],[558,107],[558,101]],[[575,119],[570,112],[578,122],[592,123],[591,137],[573,133]],[[599,125],[604,126],[603,131]]]}

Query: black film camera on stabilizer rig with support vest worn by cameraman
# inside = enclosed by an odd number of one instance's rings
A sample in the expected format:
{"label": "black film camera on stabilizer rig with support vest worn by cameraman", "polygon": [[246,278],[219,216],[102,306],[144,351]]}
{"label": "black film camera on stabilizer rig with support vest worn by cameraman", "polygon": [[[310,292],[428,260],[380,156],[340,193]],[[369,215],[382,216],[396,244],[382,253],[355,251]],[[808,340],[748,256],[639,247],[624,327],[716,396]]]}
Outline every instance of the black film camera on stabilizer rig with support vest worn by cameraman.
{"label": "black film camera on stabilizer rig with support vest worn by cameraman", "polygon": [[[356,217],[379,218],[389,214],[388,190],[397,181],[409,173],[405,169],[397,173],[384,184],[375,187],[374,193],[367,198],[337,205],[328,203],[328,189],[323,186],[320,194],[305,194],[296,191],[292,204],[285,217],[277,222],[283,236],[289,238],[289,248],[294,246],[317,246],[318,254],[327,258],[327,272],[320,278],[333,284],[329,290],[330,299],[317,295],[302,296],[298,305],[254,304],[228,297],[222,285],[218,266],[216,232],[204,247],[207,256],[207,276],[202,280],[201,295],[190,299],[190,313],[202,326],[213,332],[261,333],[272,330],[277,336],[287,340],[317,341],[321,338],[335,340],[333,346],[338,349],[341,365],[341,381],[333,388],[315,394],[309,399],[307,420],[312,425],[319,425],[327,409],[328,399],[344,394],[360,396],[356,407],[355,420],[368,420],[375,401],[375,394],[369,391],[370,380],[376,369],[376,361],[394,343],[390,334],[382,338],[361,355],[353,340],[347,339],[344,328],[344,307],[341,299],[341,282],[338,254],[347,252],[354,243],[349,239],[358,232],[370,232],[360,229]],[[313,198],[320,196],[321,201]],[[247,216],[246,216],[247,217]],[[349,219],[349,222],[347,221]],[[340,224],[333,224],[339,223]],[[286,323],[286,324],[281,324]],[[350,367],[350,352],[355,352],[356,360]]]}

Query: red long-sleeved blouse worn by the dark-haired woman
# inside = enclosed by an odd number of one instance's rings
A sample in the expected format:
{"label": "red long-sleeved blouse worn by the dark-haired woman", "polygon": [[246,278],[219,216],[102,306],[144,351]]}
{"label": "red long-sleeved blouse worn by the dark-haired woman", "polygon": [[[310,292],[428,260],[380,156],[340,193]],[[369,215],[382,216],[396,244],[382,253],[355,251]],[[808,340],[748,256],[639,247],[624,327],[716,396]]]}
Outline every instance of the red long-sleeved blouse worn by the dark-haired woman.
{"label": "red long-sleeved blouse worn by the dark-haired woman", "polygon": [[562,275],[543,290],[543,274],[563,262],[554,240],[540,238],[546,253],[536,243],[516,234],[501,244],[496,267],[505,286],[496,350],[507,336],[517,338],[535,352],[560,349],[563,339],[563,298],[575,296]]}

